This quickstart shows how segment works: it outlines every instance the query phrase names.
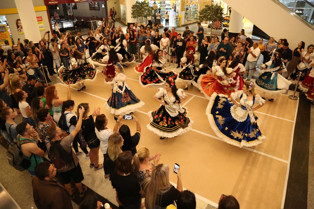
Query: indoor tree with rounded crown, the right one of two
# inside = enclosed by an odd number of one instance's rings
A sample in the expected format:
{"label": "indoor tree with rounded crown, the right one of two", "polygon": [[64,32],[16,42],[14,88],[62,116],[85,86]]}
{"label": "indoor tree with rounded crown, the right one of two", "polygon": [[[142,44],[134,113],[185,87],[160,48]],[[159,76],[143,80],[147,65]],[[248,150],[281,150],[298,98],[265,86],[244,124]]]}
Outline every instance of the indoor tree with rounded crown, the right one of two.
{"label": "indoor tree with rounded crown, the right one of two", "polygon": [[215,22],[219,20],[220,22],[224,20],[224,9],[218,4],[205,5],[201,11],[199,11],[198,19],[200,22],[208,21],[210,25],[210,38],[212,37],[212,24],[210,22]]}

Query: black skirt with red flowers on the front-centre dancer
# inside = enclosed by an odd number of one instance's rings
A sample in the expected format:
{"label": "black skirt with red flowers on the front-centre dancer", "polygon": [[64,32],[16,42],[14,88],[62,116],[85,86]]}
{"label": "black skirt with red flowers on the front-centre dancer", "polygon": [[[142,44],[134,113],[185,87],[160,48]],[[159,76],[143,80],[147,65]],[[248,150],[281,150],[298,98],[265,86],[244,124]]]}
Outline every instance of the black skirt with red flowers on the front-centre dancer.
{"label": "black skirt with red flowers on the front-centre dancer", "polygon": [[177,116],[171,117],[165,106],[161,105],[158,110],[150,111],[148,114],[151,123],[146,127],[161,137],[176,137],[192,128],[193,121],[187,117],[186,109],[183,113],[179,112]]}

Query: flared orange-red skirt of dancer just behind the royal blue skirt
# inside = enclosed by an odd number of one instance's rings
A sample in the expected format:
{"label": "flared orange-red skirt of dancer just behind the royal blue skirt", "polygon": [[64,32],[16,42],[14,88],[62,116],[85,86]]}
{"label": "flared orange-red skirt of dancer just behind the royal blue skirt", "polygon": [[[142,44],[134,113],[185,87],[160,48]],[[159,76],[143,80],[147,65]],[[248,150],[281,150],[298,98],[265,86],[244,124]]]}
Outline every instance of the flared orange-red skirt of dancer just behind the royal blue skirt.
{"label": "flared orange-red skirt of dancer just behind the royal blue skirt", "polygon": [[198,89],[207,99],[210,99],[210,96],[212,96],[214,92],[227,95],[228,97],[230,97],[232,92],[235,92],[231,86],[222,85],[219,83],[218,79],[215,79],[213,76],[208,74],[201,75],[197,82]]}

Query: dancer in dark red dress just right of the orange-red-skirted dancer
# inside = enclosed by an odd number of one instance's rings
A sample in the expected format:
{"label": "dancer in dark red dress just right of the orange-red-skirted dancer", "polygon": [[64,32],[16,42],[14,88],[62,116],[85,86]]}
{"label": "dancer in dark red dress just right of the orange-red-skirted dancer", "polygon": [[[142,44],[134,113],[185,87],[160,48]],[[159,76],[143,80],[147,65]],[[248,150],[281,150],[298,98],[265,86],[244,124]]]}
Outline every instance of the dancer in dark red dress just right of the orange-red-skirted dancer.
{"label": "dancer in dark red dress just right of the orange-red-skirted dancer", "polygon": [[235,80],[236,82],[230,84],[230,86],[234,88],[235,91],[242,90],[244,81],[241,75],[246,73],[245,68],[241,63],[240,57],[242,57],[241,54],[236,55],[235,60],[233,60],[229,65],[229,67],[232,68],[232,71],[236,73],[236,75],[233,77],[233,80]]}

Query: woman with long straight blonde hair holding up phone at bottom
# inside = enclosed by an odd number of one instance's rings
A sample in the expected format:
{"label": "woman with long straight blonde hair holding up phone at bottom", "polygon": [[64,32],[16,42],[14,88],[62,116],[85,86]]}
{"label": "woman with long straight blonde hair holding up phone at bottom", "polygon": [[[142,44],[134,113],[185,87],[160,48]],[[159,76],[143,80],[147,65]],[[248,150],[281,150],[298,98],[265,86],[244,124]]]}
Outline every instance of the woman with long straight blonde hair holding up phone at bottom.
{"label": "woman with long straight blonde hair holding up phone at bottom", "polygon": [[173,201],[176,201],[183,191],[180,169],[177,177],[177,188],[175,188],[169,182],[169,166],[166,164],[155,166],[147,186],[145,207],[147,209],[165,208],[173,204]]}

